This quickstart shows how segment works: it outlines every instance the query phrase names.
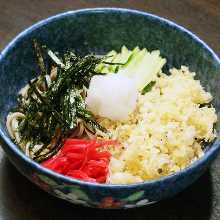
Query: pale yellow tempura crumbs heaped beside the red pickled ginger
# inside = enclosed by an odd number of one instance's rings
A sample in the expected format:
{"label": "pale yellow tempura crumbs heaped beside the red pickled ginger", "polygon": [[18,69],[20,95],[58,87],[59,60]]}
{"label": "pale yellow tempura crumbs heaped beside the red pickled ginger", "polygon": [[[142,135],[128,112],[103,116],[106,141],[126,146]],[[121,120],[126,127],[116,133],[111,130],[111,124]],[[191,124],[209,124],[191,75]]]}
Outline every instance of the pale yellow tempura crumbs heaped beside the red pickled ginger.
{"label": "pale yellow tempura crumbs heaped beside the red pickled ginger", "polygon": [[209,92],[186,66],[160,74],[152,90],[139,95],[127,121],[99,119],[121,148],[112,149],[109,183],[135,183],[179,171],[203,156],[201,141],[215,137],[215,109]]}

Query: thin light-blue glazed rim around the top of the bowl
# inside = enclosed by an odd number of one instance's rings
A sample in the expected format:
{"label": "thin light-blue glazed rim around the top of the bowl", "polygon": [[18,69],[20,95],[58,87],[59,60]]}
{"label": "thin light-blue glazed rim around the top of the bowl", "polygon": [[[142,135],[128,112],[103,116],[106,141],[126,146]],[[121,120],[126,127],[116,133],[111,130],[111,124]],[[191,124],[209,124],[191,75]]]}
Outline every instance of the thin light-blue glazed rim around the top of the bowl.
{"label": "thin light-blue glazed rim around the top of the bowl", "polygon": [[[67,11],[67,12],[63,12],[54,16],[50,16],[46,19],[43,19],[33,25],[31,25],[30,27],[26,28],[25,30],[23,30],[20,34],[18,34],[15,38],[13,38],[7,45],[6,47],[2,50],[2,52],[0,53],[0,62],[1,60],[6,56],[7,52],[9,50],[11,50],[14,45],[17,43],[17,41],[19,41],[22,37],[24,37],[25,35],[29,34],[30,32],[32,32],[33,30],[43,26],[43,25],[47,25],[48,23],[50,23],[51,21],[54,20],[58,20],[60,18],[64,18],[64,17],[68,17],[69,15],[80,15],[80,14],[87,14],[87,13],[103,13],[103,12],[119,12],[119,13],[130,13],[130,14],[134,14],[134,15],[142,15],[145,17],[148,17],[152,20],[155,20],[157,22],[162,22],[167,24],[169,27],[172,27],[174,29],[176,29],[177,31],[183,32],[184,34],[188,35],[188,37],[190,37],[192,40],[196,41],[200,46],[202,46],[206,51],[208,51],[208,53],[210,54],[210,56],[213,58],[213,60],[217,63],[217,65],[220,68],[220,59],[218,57],[217,54],[215,54],[215,52],[204,42],[202,41],[198,36],[196,36],[195,34],[193,34],[192,32],[190,32],[189,30],[187,30],[186,28],[182,27],[181,25],[178,25],[176,23],[174,23],[173,21],[170,21],[168,19],[162,18],[158,15],[154,15],[151,13],[147,13],[144,11],[139,11],[139,10],[134,10],[134,9],[128,9],[128,8],[115,8],[115,7],[98,7],[98,8],[84,8],[84,9],[79,9],[79,10],[73,10],[73,11]],[[214,142],[214,144],[210,147],[210,149],[204,154],[203,157],[201,157],[200,159],[196,160],[195,162],[193,162],[192,164],[190,164],[189,166],[187,166],[186,168],[170,174],[168,176],[164,176],[155,180],[148,180],[148,181],[144,181],[141,183],[133,183],[133,184],[101,184],[101,183],[91,183],[91,182],[85,182],[85,181],[81,181],[78,179],[73,179],[70,177],[66,177],[63,176],[61,174],[58,174],[54,171],[51,171],[47,168],[44,168],[43,166],[41,166],[40,164],[38,164],[37,162],[33,161],[32,159],[30,159],[29,157],[27,157],[20,149],[19,147],[13,143],[13,141],[4,134],[2,128],[0,128],[0,137],[1,139],[4,141],[4,144],[6,144],[7,146],[9,146],[11,148],[11,150],[13,151],[14,154],[16,154],[16,156],[21,157],[22,160],[24,160],[27,164],[29,164],[33,170],[38,170],[39,173],[44,174],[46,176],[50,176],[52,179],[58,179],[58,180],[62,180],[62,182],[66,183],[66,184],[79,184],[82,186],[95,186],[95,187],[100,187],[100,188],[118,188],[118,189],[132,189],[132,188],[140,188],[140,187],[145,187],[145,186],[151,186],[155,183],[159,184],[159,183],[164,183],[164,182],[168,182],[171,179],[176,179],[179,176],[184,176],[187,173],[190,173],[191,171],[193,171],[194,169],[196,169],[197,166],[200,166],[201,164],[203,164],[206,160],[208,160],[209,157],[215,156],[219,151],[220,151],[220,140],[216,140]]]}

